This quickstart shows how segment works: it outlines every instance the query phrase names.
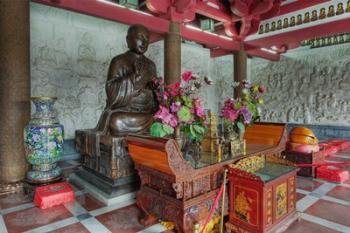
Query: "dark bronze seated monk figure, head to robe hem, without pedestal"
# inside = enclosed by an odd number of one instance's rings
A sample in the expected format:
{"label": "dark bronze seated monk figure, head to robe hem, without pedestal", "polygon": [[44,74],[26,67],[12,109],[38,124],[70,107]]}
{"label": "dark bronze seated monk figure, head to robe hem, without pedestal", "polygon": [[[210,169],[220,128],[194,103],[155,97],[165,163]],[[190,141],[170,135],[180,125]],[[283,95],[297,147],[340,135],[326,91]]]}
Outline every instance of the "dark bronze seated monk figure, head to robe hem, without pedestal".
{"label": "dark bronze seated monk figure, head to robe hem, without pedestal", "polygon": [[113,136],[139,133],[152,124],[157,110],[152,90],[156,66],[143,54],[148,48],[148,30],[131,26],[126,38],[129,51],[111,61],[106,82],[107,103],[97,131]]}

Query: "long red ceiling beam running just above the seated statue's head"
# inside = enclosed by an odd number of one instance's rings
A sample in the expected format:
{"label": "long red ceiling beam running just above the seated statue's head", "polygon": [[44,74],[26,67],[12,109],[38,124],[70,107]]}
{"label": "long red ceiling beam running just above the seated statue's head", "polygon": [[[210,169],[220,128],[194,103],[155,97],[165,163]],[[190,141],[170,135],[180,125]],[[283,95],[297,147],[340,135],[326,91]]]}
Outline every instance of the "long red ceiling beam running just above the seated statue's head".
{"label": "long red ceiling beam running just above the seated statue's head", "polygon": [[[86,15],[95,16],[98,18],[108,19],[124,24],[143,24],[151,32],[156,33],[151,36],[151,41],[160,40],[160,36],[169,30],[169,21],[151,14],[144,14],[136,10],[130,10],[125,7],[120,7],[117,4],[105,3],[96,0],[32,0],[33,2],[58,7]],[[158,35],[157,35],[158,34]],[[239,43],[231,40],[207,33],[201,30],[193,30],[185,25],[181,26],[181,36],[190,41],[203,44],[207,47],[220,47],[229,51],[239,50]]]}

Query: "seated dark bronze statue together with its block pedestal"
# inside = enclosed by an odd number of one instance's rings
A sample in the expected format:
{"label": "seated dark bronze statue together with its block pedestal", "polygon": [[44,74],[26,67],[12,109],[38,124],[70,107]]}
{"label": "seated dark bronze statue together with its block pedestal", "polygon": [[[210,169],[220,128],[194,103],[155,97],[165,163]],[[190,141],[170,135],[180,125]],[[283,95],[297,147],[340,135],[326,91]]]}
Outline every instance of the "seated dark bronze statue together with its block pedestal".
{"label": "seated dark bronze statue together with its block pedestal", "polygon": [[[142,25],[131,26],[126,41],[129,51],[110,63],[106,106],[97,126],[77,130],[75,138],[83,165],[77,175],[111,195],[135,190],[135,186],[125,186],[136,183],[137,178],[125,136],[147,132],[157,111],[153,88],[156,66],[144,56],[149,32]],[[119,186],[124,187],[123,192]]]}

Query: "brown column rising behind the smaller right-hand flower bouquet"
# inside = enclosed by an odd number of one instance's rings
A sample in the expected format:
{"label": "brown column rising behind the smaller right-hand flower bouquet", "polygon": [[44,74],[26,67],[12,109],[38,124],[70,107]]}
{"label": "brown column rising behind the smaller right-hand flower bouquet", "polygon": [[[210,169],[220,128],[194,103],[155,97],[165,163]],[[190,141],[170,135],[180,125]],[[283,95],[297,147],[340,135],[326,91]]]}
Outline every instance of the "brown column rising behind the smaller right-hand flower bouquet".
{"label": "brown column rising behind the smaller right-hand flower bouquet", "polygon": [[[247,54],[244,51],[243,43],[238,52],[233,55],[233,80],[235,82],[241,82],[247,79]],[[234,88],[233,96],[237,98],[241,96],[242,86]]]}

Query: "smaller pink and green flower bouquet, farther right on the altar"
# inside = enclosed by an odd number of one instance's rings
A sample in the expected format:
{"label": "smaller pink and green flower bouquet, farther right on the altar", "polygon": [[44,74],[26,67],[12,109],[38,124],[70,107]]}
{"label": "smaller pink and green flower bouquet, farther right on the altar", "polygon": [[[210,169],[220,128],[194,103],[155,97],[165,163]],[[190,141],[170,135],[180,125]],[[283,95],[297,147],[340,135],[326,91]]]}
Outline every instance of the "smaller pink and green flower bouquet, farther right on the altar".
{"label": "smaller pink and green flower bouquet, farther right on the altar", "polygon": [[265,87],[249,82],[242,82],[242,96],[238,99],[227,99],[222,109],[224,127],[228,131],[243,134],[247,125],[259,119],[259,105],[264,103],[261,95]]}

